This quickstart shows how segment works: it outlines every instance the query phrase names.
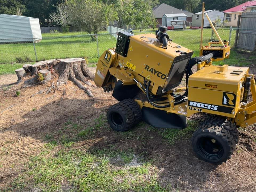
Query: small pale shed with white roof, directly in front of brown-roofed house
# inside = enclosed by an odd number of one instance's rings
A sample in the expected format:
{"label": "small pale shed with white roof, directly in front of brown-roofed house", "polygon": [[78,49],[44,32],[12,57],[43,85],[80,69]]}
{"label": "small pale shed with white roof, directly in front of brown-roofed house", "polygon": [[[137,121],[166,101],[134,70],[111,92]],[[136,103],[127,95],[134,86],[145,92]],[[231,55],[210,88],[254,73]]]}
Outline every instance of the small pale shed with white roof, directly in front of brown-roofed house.
{"label": "small pale shed with white roof, directly in front of brown-roofed house", "polygon": [[172,29],[183,29],[184,27],[186,28],[186,20],[187,15],[184,13],[164,14],[162,25],[166,27],[173,26]]}

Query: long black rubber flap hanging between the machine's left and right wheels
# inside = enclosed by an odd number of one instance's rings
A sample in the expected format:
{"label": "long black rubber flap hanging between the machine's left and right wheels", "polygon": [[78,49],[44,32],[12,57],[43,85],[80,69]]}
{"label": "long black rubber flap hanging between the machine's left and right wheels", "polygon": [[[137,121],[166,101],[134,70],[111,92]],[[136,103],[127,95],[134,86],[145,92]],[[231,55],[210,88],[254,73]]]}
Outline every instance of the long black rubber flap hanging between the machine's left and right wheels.
{"label": "long black rubber flap hanging between the machine's left and right wheels", "polygon": [[184,129],[187,127],[186,116],[166,113],[164,110],[142,107],[142,120],[158,128]]}

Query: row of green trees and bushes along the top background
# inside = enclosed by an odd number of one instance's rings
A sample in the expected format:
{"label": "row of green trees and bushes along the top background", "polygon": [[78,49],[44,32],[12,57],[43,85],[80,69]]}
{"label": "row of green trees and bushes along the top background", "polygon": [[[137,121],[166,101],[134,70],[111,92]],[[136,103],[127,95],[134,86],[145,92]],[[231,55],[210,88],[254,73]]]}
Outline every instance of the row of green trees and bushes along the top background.
{"label": "row of green trees and bushes along the top background", "polygon": [[36,17],[41,26],[56,23],[68,31],[72,25],[95,34],[113,21],[120,28],[155,26],[152,8],[160,3],[197,13],[202,1],[206,10],[223,11],[246,0],[0,0],[0,14]]}

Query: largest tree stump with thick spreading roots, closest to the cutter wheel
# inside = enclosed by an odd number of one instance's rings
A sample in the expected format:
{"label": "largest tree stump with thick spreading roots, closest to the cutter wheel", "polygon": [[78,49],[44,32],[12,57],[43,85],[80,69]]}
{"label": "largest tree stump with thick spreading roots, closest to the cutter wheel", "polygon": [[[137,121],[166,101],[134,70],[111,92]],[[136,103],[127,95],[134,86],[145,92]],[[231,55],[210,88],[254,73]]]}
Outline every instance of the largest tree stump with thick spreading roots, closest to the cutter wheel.
{"label": "largest tree stump with thick spreading roots, closest to the cutter wheel", "polygon": [[93,97],[93,94],[89,89],[82,85],[79,81],[82,81],[86,85],[92,86],[88,79],[93,79],[93,74],[87,69],[85,59],[72,58],[72,59],[59,59],[58,60],[59,79],[57,86],[67,83],[67,80],[74,82],[80,89]]}

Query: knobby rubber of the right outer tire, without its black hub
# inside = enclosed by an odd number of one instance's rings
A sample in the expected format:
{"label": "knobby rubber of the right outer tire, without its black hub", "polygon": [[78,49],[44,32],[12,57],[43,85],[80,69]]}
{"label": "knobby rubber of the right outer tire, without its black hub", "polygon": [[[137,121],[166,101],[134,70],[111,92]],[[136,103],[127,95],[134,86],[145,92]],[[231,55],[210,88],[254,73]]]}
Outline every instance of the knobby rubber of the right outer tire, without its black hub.
{"label": "knobby rubber of the right outer tire, without its black hub", "polygon": [[[232,122],[231,122],[232,124]],[[231,158],[234,148],[235,148],[235,141],[233,135],[230,134],[230,131],[225,129],[227,127],[230,129],[230,121],[225,120],[222,117],[210,117],[202,122],[201,126],[196,130],[191,138],[192,147],[194,152],[196,153],[197,157],[215,164],[221,164],[226,162],[228,159]],[[201,150],[198,148],[198,140],[203,137],[210,137],[216,139],[221,146],[223,147],[223,155],[218,159],[210,159],[200,152]]]}

